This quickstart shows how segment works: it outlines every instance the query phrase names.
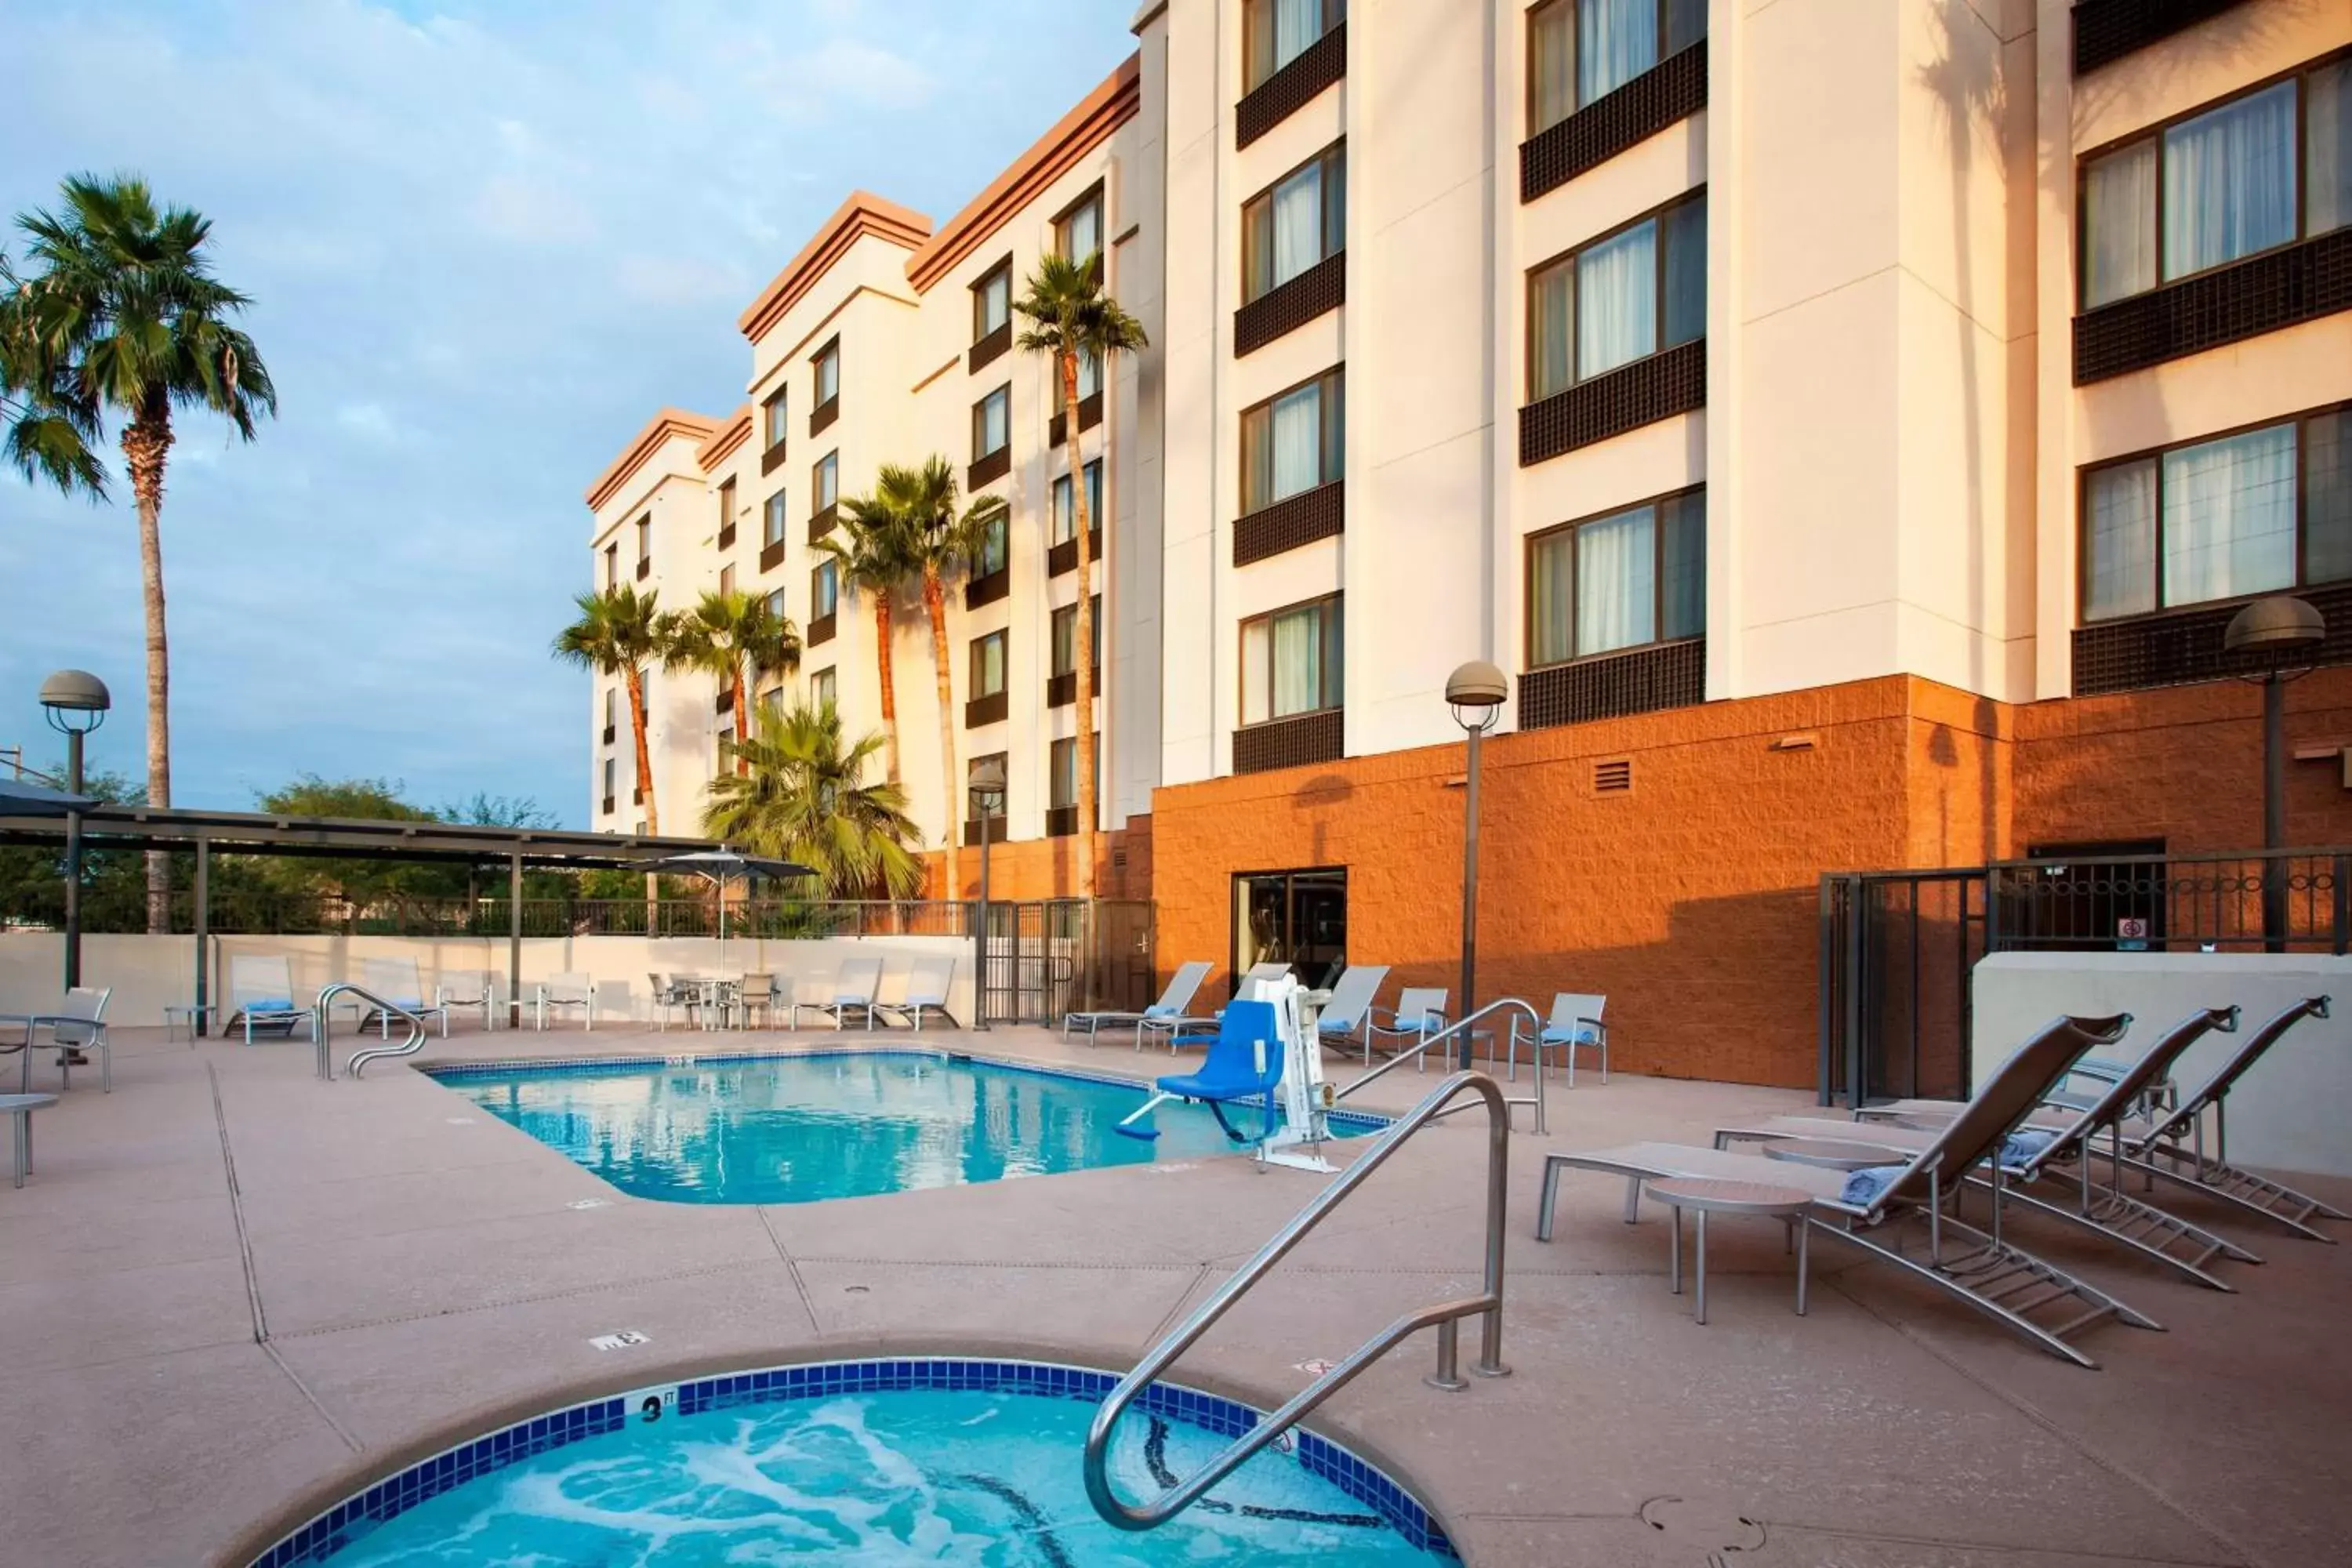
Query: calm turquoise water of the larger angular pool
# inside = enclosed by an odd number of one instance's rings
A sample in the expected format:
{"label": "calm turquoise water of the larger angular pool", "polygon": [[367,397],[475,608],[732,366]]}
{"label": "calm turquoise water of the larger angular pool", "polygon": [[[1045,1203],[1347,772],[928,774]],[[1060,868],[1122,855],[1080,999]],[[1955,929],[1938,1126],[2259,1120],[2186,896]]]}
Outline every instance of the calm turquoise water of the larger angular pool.
{"label": "calm turquoise water of the larger angular pool", "polygon": [[[1141,1086],[931,1051],[437,1077],[621,1192],[673,1204],[814,1204],[1240,1147],[1197,1105],[1152,1112],[1152,1143],[1112,1133],[1143,1103]],[[1256,1133],[1256,1110],[1228,1117]],[[1343,1138],[1378,1126],[1331,1119]]]}

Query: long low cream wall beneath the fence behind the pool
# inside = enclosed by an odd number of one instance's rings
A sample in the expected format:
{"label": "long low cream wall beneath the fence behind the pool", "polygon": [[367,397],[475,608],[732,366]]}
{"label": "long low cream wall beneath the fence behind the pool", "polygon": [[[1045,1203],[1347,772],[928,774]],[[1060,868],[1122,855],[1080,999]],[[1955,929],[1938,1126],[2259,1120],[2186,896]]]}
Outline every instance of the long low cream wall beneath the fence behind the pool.
{"label": "long low cream wall beneath the fence behind the pool", "polygon": [[[365,980],[367,959],[414,959],[426,990],[449,978],[492,971],[506,997],[506,938],[407,938],[407,936],[221,936],[212,940],[212,997],[228,994],[235,954],[285,954],[294,994],[315,997],[334,980]],[[955,959],[950,1006],[971,1018],[971,943],[950,936],[873,936],[826,940],[729,938],[724,957],[715,938],[649,940],[637,936],[524,938],[522,985],[557,973],[586,973],[597,983],[597,1018],[652,1020],[649,973],[774,973],[779,994],[802,1001],[830,999],[830,983],[844,959],[882,959],[884,1001],[906,997],[917,959]],[[9,1009],[54,1006],[64,971],[64,938],[47,931],[0,936],[0,997]],[[193,936],[89,936],[82,938],[82,976],[111,985],[108,1023],[160,1025],[165,1006],[195,997]],[[567,1013],[579,1027],[579,1013]],[[550,1027],[555,1027],[550,1023]]]}

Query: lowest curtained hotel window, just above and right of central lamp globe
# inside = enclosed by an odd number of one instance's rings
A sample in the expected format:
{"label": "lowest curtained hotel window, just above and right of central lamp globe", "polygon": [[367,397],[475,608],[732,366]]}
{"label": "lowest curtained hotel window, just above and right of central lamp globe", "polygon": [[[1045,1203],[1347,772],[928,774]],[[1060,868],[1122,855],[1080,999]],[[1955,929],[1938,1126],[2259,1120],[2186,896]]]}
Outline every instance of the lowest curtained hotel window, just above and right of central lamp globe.
{"label": "lowest curtained hotel window, just above and right of central lamp globe", "polygon": [[1571,522],[1526,541],[1526,663],[1708,630],[1708,494]]}

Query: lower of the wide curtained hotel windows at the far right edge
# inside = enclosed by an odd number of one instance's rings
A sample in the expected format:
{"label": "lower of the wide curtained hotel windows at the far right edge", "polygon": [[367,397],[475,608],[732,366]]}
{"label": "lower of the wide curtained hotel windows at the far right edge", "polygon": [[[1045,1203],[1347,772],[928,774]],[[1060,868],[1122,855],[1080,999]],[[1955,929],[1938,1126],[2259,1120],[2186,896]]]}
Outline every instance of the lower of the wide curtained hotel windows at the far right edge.
{"label": "lower of the wide curtained hotel windows at the far right edge", "polygon": [[2084,621],[2343,578],[2352,407],[2084,473]]}

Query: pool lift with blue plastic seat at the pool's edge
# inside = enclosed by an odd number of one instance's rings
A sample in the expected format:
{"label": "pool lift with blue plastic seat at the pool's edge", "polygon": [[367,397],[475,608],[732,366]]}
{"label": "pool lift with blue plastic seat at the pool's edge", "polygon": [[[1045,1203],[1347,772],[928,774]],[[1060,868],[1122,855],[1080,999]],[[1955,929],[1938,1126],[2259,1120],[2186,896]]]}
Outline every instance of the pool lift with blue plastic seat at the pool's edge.
{"label": "pool lift with blue plastic seat at the pool's edge", "polygon": [[[1207,1105],[1232,1143],[1256,1143],[1261,1166],[1334,1173],[1338,1166],[1317,1152],[1331,1135],[1324,1126],[1331,1088],[1322,1077],[1322,1048],[1305,994],[1291,976],[1244,980],[1242,994],[1225,1004],[1200,1070],[1157,1079],[1152,1098],[1112,1131],[1157,1138],[1152,1112],[1169,1100],[1185,1100]],[[1230,1105],[1251,1100],[1258,1105],[1256,1138],[1225,1117]]]}

